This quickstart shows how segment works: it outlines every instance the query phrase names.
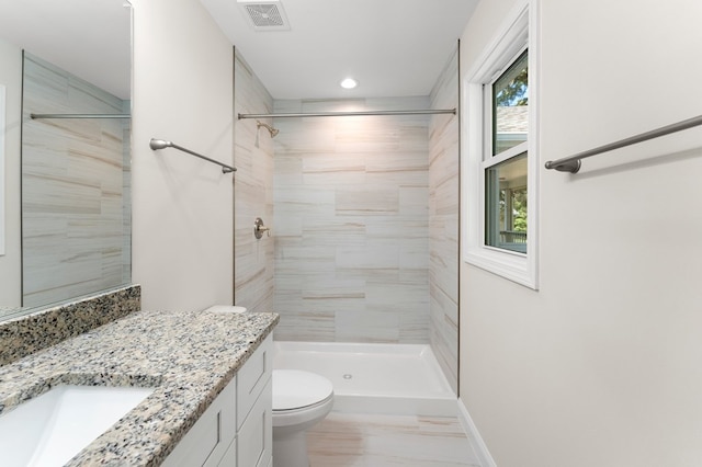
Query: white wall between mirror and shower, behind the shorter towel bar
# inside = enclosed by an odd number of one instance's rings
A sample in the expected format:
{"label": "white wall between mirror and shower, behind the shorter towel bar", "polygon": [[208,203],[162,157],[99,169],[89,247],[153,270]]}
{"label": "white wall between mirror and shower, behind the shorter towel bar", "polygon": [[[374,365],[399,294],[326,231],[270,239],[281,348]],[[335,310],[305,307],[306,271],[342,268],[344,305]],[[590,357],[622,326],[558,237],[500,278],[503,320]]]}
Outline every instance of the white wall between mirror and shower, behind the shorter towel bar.
{"label": "white wall between mirror and shower, behind the shorter towel bar", "polygon": [[143,308],[231,304],[233,47],[196,0],[134,1],[133,281]]}

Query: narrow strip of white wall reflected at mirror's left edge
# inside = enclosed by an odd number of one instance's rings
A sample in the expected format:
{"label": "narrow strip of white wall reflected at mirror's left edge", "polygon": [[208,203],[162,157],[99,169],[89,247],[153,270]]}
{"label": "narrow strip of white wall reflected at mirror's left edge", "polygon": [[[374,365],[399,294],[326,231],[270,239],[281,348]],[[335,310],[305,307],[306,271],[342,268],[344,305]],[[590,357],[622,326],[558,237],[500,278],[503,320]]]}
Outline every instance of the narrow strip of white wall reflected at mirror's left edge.
{"label": "narrow strip of white wall reflected at mirror's left edge", "polygon": [[[0,84],[5,87],[4,109],[4,255],[0,255],[0,308],[19,307],[21,294],[20,232],[20,116],[22,115],[22,50],[0,39]],[[2,176],[2,170],[0,170]],[[0,197],[0,202],[3,200]],[[1,215],[1,209],[0,209]],[[1,228],[1,227],[0,227]]]}

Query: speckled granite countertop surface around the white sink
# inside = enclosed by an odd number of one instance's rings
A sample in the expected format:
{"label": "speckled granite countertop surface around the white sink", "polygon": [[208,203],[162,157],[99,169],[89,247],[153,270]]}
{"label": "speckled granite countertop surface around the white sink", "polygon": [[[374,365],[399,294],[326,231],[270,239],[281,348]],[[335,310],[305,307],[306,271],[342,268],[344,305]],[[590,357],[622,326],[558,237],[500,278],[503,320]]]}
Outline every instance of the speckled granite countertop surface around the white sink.
{"label": "speckled granite countertop surface around the white sink", "polygon": [[0,413],[59,384],[154,387],[67,465],[157,466],[278,321],[275,314],[138,311],[0,366]]}

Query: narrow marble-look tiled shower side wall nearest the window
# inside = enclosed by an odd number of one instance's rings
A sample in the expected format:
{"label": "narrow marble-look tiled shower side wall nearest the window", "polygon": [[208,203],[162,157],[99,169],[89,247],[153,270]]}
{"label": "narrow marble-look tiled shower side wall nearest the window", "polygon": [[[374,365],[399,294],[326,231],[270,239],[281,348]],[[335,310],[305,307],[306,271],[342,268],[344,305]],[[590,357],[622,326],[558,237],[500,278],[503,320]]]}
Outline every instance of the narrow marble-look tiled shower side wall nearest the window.
{"label": "narrow marble-look tiled shower side wall nearest the window", "polygon": [[[458,106],[454,54],[431,93],[432,109]],[[429,125],[429,277],[431,348],[452,388],[458,380],[458,118],[433,115]]]}

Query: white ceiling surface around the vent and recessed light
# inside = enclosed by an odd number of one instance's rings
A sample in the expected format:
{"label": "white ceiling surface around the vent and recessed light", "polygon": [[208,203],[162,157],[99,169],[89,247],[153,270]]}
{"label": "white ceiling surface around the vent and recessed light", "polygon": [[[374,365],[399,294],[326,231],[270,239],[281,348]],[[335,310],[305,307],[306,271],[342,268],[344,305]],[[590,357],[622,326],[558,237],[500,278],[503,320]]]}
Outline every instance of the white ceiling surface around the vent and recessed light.
{"label": "white ceiling surface around the vent and recessed light", "polygon": [[245,0],[287,16],[287,31],[256,31],[241,0],[201,1],[274,99],[429,95],[478,2]]}

